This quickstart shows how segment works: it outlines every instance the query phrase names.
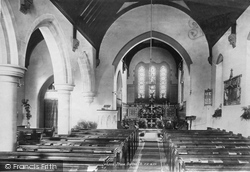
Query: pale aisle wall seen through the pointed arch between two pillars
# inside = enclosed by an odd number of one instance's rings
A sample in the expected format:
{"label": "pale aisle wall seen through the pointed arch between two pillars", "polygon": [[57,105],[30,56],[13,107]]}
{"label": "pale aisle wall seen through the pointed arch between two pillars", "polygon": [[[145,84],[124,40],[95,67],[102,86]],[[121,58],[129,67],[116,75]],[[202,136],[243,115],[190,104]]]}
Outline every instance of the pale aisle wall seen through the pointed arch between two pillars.
{"label": "pale aisle wall seen through the pointed arch between two pillars", "polygon": [[[39,126],[38,115],[43,115],[39,112],[38,94],[44,82],[52,75],[53,68],[50,54],[45,41],[42,41],[33,50],[30,57],[30,65],[24,76],[24,98],[29,100],[31,106],[32,117],[30,123],[32,127]],[[22,98],[19,97],[18,99],[21,102]],[[24,120],[24,122],[26,121]]]}

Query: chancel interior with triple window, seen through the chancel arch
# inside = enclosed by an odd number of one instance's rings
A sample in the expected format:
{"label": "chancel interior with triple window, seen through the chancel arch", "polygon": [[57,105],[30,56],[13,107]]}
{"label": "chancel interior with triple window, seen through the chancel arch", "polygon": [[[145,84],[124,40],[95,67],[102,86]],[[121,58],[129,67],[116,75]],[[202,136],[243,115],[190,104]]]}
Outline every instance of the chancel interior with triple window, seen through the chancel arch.
{"label": "chancel interior with triple window, seen through the chancel arch", "polygon": [[[145,113],[149,113],[146,115],[147,117],[140,112],[138,114],[141,115],[138,117],[146,119],[149,128],[154,128],[156,120],[162,118],[163,112],[162,109],[158,109],[161,114],[159,113],[156,117],[152,109],[168,106],[175,108],[174,106],[179,103],[178,66],[182,64],[183,59],[164,42],[156,39],[151,41],[152,46],[149,44],[150,40],[145,40],[130,49],[121,62],[127,67],[125,72],[127,73],[125,80],[127,102],[125,103],[129,109],[128,114],[131,114],[135,109],[138,111],[146,110]],[[119,66],[118,69],[120,68]],[[185,68],[188,69],[187,65]],[[188,74],[188,70],[185,71],[185,75],[188,76]]]}

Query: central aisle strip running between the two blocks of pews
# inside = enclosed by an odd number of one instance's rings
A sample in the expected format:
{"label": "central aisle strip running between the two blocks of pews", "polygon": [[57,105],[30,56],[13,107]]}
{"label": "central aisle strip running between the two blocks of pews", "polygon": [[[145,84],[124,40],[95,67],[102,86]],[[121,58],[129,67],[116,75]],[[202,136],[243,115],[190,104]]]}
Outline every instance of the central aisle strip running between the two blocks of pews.
{"label": "central aisle strip running between the two blocks of pews", "polygon": [[140,143],[128,172],[167,172],[164,166],[164,151],[160,130],[144,130],[144,137],[140,137]]}

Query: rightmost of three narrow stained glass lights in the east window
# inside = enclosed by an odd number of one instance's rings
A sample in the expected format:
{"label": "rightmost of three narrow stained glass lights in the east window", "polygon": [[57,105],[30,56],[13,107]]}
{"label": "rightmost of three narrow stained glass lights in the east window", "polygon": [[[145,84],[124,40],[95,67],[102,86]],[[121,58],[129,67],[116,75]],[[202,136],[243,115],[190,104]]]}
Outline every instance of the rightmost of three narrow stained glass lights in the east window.
{"label": "rightmost of three narrow stained glass lights in the east window", "polygon": [[161,66],[160,68],[160,98],[167,97],[167,68]]}

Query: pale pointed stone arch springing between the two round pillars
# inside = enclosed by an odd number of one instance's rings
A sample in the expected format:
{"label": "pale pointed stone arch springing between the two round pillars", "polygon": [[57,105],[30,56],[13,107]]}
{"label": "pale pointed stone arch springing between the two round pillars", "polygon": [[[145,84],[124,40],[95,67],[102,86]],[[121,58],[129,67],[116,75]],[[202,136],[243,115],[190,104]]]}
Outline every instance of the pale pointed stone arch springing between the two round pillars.
{"label": "pale pointed stone arch springing between the two round pillars", "polygon": [[27,32],[24,43],[21,45],[21,55],[25,64],[25,54],[32,33],[40,29],[50,52],[54,80],[56,85],[73,85],[72,67],[65,44],[65,36],[61,26],[53,15],[44,14],[38,17]]}

